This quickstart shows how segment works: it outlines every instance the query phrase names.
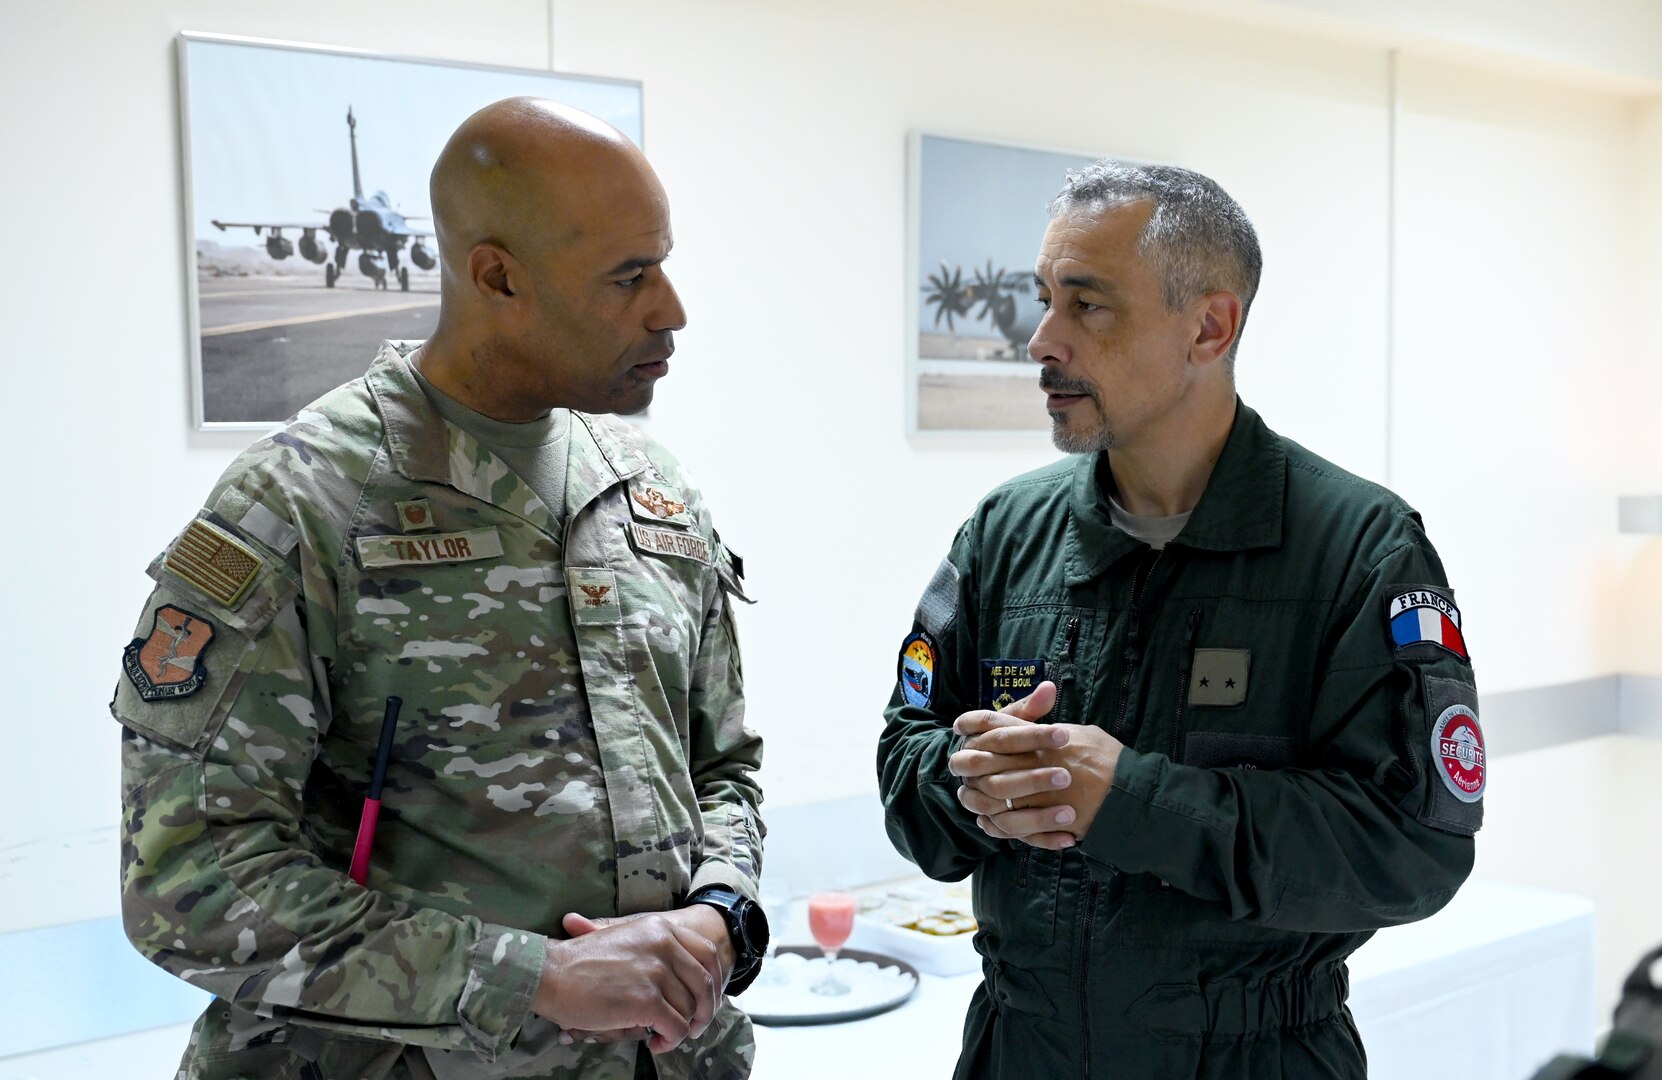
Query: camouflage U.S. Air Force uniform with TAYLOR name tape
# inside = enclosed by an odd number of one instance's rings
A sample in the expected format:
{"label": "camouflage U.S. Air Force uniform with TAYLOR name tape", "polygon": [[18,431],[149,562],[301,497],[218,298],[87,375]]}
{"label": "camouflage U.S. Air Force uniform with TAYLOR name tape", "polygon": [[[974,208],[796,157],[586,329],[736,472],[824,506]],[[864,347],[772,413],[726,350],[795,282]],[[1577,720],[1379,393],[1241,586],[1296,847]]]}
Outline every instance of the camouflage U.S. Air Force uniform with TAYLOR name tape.
{"label": "camouflage U.S. Air Force uniform with TAYLOR name tape", "polygon": [[[560,1047],[529,1009],[565,912],[755,896],[733,558],[612,419],[573,415],[550,513],[404,351],[243,454],[150,568],[111,706],[126,932],[218,995],[181,1077],[632,1077],[640,1043]],[[745,1077],[751,1055],[725,1004],[656,1068]]]}

